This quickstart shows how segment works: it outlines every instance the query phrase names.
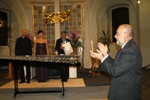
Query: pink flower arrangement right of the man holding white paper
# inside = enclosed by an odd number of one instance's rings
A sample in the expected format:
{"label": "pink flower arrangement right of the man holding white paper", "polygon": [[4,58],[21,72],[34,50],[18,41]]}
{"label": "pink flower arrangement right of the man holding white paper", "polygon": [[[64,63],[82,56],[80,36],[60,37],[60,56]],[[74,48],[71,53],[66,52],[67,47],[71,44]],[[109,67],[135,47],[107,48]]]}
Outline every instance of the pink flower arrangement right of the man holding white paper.
{"label": "pink flower arrangement right of the man holding white paper", "polygon": [[71,45],[73,48],[82,47],[81,41],[79,41],[79,35],[77,32],[70,33]]}

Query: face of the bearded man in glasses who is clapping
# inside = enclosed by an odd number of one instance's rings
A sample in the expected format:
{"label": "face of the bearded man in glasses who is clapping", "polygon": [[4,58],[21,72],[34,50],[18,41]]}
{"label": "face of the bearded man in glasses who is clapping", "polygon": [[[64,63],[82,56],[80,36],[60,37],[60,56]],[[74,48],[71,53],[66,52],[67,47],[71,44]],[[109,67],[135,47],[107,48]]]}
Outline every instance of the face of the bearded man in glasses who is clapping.
{"label": "face of the bearded man in glasses who is clapping", "polygon": [[116,43],[120,46],[123,46],[126,43],[126,30],[122,26],[117,29],[115,38],[117,40]]}

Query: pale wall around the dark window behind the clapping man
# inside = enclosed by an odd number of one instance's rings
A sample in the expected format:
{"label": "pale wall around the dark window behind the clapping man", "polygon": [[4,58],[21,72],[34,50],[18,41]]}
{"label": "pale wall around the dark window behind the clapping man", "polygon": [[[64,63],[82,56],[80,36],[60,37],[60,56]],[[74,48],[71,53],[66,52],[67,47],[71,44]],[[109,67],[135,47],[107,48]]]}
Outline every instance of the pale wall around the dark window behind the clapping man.
{"label": "pale wall around the dark window behind the clapping man", "polygon": [[[90,0],[88,1],[89,2],[87,3],[87,5],[89,4],[89,6],[87,7],[87,9],[89,9],[89,11],[85,12],[85,15],[88,16],[88,18],[85,19],[85,23],[88,24],[88,27],[87,30],[85,29],[85,34],[89,34],[89,37],[87,38],[89,40],[86,41],[93,40],[96,49],[98,34],[101,32],[102,29],[104,31],[111,29],[111,18],[108,16],[109,14],[107,13],[107,9],[113,8],[113,6],[117,7],[127,5],[129,8],[130,24],[134,29],[134,40],[138,44],[142,52],[143,67],[148,65],[150,63],[150,42],[148,42],[150,37],[150,0],[142,0],[140,5],[137,4],[137,0],[93,0],[94,3],[92,4],[90,3]],[[110,55],[114,58],[117,52],[116,44],[113,44],[110,49]],[[90,46],[87,47],[85,50],[89,51]],[[85,58],[85,61],[88,61],[86,59],[88,58]],[[90,68],[90,64],[90,62],[86,62],[85,67]],[[88,67],[88,65],[90,66]]]}

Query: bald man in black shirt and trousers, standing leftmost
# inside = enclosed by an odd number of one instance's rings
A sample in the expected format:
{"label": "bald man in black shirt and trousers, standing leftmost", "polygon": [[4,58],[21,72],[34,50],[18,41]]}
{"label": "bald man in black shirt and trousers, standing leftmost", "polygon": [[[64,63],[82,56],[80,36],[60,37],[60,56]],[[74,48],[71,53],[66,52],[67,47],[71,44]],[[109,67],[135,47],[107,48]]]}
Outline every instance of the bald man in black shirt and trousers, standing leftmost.
{"label": "bald man in black shirt and trousers, standing leftmost", "polygon": [[[23,56],[23,55],[32,55],[32,45],[31,41],[27,36],[27,30],[22,29],[21,30],[21,37],[19,37],[16,40],[16,46],[15,46],[15,55],[16,56]],[[24,65],[19,66],[20,70],[20,79],[21,81],[19,83],[25,82],[25,75],[24,75]],[[26,65],[26,79],[27,83],[30,83],[30,65]]]}

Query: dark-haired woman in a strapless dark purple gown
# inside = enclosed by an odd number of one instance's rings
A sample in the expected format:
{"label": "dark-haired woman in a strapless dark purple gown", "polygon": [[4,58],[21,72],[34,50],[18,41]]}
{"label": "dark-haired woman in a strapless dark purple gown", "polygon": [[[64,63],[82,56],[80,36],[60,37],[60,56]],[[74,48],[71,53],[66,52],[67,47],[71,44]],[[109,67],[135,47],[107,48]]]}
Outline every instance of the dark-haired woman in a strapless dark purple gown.
{"label": "dark-haired woman in a strapless dark purple gown", "polygon": [[[49,55],[48,42],[44,38],[42,30],[37,32],[38,38],[34,41],[34,53],[33,55]],[[36,80],[38,82],[45,82],[49,79],[48,67],[36,67]]]}

